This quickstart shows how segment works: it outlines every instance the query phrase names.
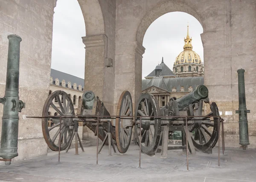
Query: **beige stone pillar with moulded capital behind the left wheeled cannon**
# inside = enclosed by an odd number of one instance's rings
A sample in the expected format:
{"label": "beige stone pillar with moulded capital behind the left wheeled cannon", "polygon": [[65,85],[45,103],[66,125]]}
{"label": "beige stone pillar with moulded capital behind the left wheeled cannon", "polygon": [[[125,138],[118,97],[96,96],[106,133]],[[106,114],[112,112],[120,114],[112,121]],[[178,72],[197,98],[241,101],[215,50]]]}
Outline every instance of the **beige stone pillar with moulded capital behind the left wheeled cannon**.
{"label": "beige stone pillar with moulded capital behind the left wheeled cannon", "polygon": [[[82,37],[85,45],[84,90],[91,90],[104,102],[110,114],[113,114],[113,83],[114,78],[109,76],[113,67],[107,67],[108,38],[105,34]],[[94,134],[83,128],[85,137],[95,138]],[[85,134],[86,132],[89,132]],[[91,134],[90,134],[91,133]],[[86,137],[86,138],[87,138]],[[96,138],[95,138],[96,139]]]}

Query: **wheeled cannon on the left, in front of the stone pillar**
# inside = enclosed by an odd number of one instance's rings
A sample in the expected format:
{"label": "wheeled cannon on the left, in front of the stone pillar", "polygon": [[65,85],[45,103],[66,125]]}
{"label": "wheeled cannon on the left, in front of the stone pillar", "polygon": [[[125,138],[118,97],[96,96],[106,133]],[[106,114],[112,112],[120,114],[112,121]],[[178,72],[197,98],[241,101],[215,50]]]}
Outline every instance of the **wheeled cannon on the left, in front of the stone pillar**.
{"label": "wheeled cannon on the left, in front of the stone pillar", "polygon": [[[60,119],[49,115],[50,107],[52,107],[60,116],[75,116],[73,102],[66,92],[57,90],[48,96],[42,112],[42,116],[45,117],[42,118],[42,130],[48,147],[53,151],[59,150],[60,140],[58,139],[58,135],[61,130],[60,150],[62,151],[68,147],[73,139],[74,118],[61,118],[60,128]],[[124,91],[122,93],[117,108],[118,116],[132,116],[133,112],[130,92]],[[78,111],[76,114],[77,116],[87,116],[80,117],[79,120],[83,121],[83,125],[86,125],[92,130],[95,133],[95,136],[97,133],[97,116],[105,116],[104,118],[99,118],[99,139],[104,141],[108,133],[108,123],[101,121],[111,121],[109,130],[113,140],[116,141],[119,152],[125,153],[128,150],[131,142],[133,126],[132,118],[120,120],[111,119],[104,103],[92,91],[84,91],[82,98],[79,99]],[[49,121],[51,121],[53,125],[49,125]],[[120,133],[116,134],[116,131],[119,131]],[[108,144],[108,141],[106,141],[106,144]]]}

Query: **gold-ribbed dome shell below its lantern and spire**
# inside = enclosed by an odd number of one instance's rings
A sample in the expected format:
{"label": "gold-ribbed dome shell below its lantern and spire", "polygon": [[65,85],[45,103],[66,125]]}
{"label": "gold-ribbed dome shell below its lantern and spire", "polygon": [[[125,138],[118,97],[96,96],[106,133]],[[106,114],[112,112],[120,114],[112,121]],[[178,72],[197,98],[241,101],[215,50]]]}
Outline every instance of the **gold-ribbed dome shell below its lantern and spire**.
{"label": "gold-ribbed dome shell below its lantern and spire", "polygon": [[174,62],[175,65],[185,63],[202,64],[202,61],[200,56],[195,51],[190,49],[180,52]]}

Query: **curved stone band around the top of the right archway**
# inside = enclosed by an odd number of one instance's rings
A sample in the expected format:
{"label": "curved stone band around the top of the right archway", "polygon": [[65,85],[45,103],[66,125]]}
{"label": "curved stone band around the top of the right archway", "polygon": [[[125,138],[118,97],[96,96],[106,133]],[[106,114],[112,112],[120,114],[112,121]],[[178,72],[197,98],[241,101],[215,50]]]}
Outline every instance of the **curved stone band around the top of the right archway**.
{"label": "curved stone band around the top of the right archway", "polygon": [[142,45],[145,32],[147,31],[151,23],[153,23],[154,20],[156,20],[158,17],[162,16],[163,14],[170,13],[170,12],[188,13],[193,17],[195,17],[201,23],[204,29],[201,17],[195,11],[195,9],[193,9],[188,4],[167,1],[167,2],[157,4],[151,10],[149,10],[147,14],[145,14],[145,16],[140,22],[140,25],[138,26],[137,33],[136,33],[136,41]]}

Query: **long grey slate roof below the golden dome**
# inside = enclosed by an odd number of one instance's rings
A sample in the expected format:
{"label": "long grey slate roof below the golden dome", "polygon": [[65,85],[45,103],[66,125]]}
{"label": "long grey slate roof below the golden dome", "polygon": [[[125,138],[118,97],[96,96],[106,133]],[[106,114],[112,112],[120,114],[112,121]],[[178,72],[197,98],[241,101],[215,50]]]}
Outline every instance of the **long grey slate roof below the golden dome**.
{"label": "long grey slate roof below the golden dome", "polygon": [[185,77],[185,78],[163,78],[163,77],[154,77],[152,79],[142,80],[142,90],[145,90],[149,87],[155,86],[168,92],[172,92],[172,88],[176,87],[177,92],[179,92],[180,87],[184,87],[184,91],[189,91],[189,86],[193,87],[195,90],[199,85],[204,84],[204,77]]}

